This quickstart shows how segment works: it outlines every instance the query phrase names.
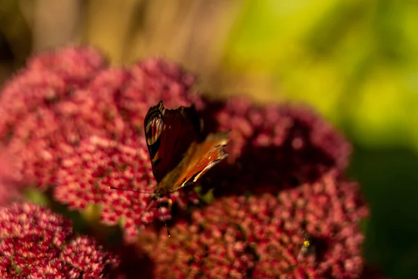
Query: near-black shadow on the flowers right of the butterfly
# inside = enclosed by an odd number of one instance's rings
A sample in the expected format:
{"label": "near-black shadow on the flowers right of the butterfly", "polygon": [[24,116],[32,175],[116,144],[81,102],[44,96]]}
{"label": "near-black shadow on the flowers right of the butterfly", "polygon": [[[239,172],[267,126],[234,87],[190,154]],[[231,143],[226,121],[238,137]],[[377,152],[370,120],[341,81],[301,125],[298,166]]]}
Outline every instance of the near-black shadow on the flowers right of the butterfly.
{"label": "near-black shadow on the flowers right of the butterfly", "polygon": [[[219,123],[214,115],[224,109],[225,103],[209,100],[206,100],[206,103],[208,105],[200,112],[205,132],[219,131]],[[312,183],[330,169],[341,171],[344,169],[341,162],[346,161],[348,151],[342,151],[338,155],[329,151],[344,150],[346,142],[329,133],[327,140],[330,141],[330,146],[318,144],[314,142],[313,137],[322,131],[318,132],[317,127],[306,121],[303,116],[298,118],[297,114],[290,114],[288,117],[293,123],[291,127],[284,128],[281,144],[256,146],[255,138],[265,132],[256,128],[254,134],[245,139],[245,146],[242,146],[240,156],[235,160],[226,158],[203,176],[201,179],[203,193],[214,186],[216,197],[242,195],[247,192],[256,195],[266,192],[277,193],[279,190],[299,186],[302,183]],[[226,153],[234,148],[231,146],[235,143],[231,134],[230,139],[230,144],[225,148]]]}

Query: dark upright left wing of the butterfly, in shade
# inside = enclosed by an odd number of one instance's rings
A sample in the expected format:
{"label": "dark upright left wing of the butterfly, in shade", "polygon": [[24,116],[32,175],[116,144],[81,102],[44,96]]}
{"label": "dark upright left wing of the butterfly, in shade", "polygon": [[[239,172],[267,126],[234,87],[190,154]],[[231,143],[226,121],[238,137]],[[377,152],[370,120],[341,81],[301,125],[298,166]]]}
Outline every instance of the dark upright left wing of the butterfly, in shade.
{"label": "dark upright left wing of the butterfly, in shade", "polygon": [[144,129],[157,182],[178,165],[190,144],[199,141],[201,135],[194,106],[167,110],[162,101],[148,110]]}

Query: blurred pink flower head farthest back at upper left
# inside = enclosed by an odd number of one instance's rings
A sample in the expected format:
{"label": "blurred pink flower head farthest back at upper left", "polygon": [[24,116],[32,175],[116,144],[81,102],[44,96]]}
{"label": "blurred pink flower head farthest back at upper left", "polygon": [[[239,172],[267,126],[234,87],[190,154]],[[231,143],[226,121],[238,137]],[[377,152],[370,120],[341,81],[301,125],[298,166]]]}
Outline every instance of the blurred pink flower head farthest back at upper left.
{"label": "blurred pink flower head farthest back at upper left", "polygon": [[1,91],[0,137],[13,133],[16,121],[38,107],[69,98],[72,90],[88,84],[103,66],[102,56],[88,47],[67,47],[33,56]]}

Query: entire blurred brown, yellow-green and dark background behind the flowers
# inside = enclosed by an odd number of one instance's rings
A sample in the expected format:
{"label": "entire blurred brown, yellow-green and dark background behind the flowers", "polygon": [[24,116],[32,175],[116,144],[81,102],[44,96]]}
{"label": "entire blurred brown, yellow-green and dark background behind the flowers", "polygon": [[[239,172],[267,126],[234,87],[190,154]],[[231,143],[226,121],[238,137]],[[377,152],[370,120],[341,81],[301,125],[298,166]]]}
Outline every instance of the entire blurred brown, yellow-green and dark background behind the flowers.
{"label": "entire blurred brown, yellow-green and dark background behind the flowers", "polygon": [[418,278],[418,1],[0,0],[0,82],[82,43],[113,65],[164,56],[213,98],[307,103],[353,142],[365,257]]}

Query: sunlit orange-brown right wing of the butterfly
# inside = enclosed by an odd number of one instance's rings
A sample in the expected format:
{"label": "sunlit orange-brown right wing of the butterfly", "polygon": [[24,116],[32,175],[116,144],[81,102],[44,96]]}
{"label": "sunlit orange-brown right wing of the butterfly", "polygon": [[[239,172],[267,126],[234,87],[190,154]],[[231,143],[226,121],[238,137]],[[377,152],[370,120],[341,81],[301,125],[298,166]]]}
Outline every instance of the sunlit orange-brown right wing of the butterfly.
{"label": "sunlit orange-brown right wing of the butterfly", "polygon": [[157,185],[157,193],[167,195],[194,183],[208,170],[228,156],[224,146],[229,142],[229,131],[209,134],[201,143],[193,142],[178,166]]}

